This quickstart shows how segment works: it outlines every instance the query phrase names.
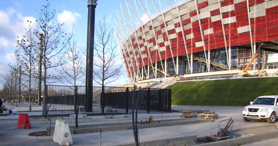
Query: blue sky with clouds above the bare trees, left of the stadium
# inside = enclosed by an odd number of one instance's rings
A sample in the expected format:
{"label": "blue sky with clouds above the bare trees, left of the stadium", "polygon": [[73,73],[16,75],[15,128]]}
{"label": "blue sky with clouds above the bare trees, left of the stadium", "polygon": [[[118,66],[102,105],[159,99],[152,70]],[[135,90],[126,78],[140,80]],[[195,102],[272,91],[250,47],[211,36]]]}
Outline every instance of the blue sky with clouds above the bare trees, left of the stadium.
{"label": "blue sky with clouds above the bare trees, left of the stadium", "polygon": [[[38,18],[38,12],[46,0],[0,0],[0,89],[4,83],[3,76],[8,73],[8,63],[15,63],[14,52],[18,36],[25,33],[28,20]],[[105,16],[114,25],[117,11],[120,11],[120,3],[125,0],[98,0],[96,8],[96,24]],[[50,0],[51,9],[55,9],[57,19],[65,23],[65,29],[74,25],[75,39],[80,46],[86,48],[87,42],[87,0]],[[121,84],[126,83],[123,77]],[[118,82],[119,83],[119,82]],[[111,85],[117,85],[111,84]]]}

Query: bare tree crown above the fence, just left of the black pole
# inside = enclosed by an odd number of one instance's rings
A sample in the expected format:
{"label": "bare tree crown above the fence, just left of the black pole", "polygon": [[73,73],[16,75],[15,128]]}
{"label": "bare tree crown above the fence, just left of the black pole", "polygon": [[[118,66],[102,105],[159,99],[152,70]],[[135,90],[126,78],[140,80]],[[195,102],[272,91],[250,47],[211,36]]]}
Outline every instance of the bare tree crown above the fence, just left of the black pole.
{"label": "bare tree crown above the fence, just left of the black pole", "polygon": [[83,85],[85,82],[85,69],[83,60],[84,52],[80,51],[80,47],[75,40],[71,40],[66,47],[64,54],[64,64],[61,66],[61,82],[63,84],[71,84],[72,86]]}

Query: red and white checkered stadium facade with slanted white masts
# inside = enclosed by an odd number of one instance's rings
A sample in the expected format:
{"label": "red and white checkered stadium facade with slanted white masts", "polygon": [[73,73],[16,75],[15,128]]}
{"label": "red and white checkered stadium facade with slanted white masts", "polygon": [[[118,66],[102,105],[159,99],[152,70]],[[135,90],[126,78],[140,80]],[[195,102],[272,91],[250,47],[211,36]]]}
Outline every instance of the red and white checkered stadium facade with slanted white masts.
{"label": "red and white checkered stadium facade with slanted white masts", "polygon": [[148,1],[127,0],[116,20],[115,36],[131,83],[243,70],[257,50],[250,69],[278,68],[278,0],[164,0],[164,8],[160,0]]}

